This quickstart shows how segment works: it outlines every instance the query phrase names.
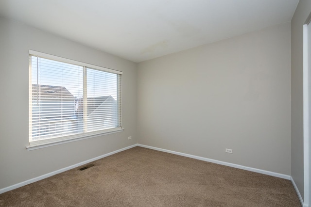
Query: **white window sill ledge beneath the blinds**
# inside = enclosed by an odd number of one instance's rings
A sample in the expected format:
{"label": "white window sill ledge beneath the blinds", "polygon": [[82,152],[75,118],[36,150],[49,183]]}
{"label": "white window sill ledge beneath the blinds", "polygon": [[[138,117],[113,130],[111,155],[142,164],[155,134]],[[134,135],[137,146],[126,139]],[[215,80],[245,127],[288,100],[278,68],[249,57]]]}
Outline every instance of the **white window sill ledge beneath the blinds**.
{"label": "white window sill ledge beneath the blinds", "polygon": [[92,135],[86,135],[86,136],[78,137],[78,138],[70,138],[70,139],[66,139],[66,140],[53,140],[51,142],[46,142],[46,143],[34,143],[34,144],[30,143],[28,146],[26,146],[26,148],[27,148],[27,151],[31,151],[31,150],[41,149],[44,147],[54,146],[54,145],[58,145],[58,144],[71,143],[71,142],[75,142],[75,141],[79,141],[79,140],[85,140],[85,139],[89,139],[89,138],[93,138],[93,137],[98,137],[100,135],[117,133],[117,132],[121,132],[123,130],[124,130],[124,128],[118,128],[118,129],[115,129],[112,131],[108,131],[108,132],[104,132],[104,133],[97,133],[97,134],[92,134]]}

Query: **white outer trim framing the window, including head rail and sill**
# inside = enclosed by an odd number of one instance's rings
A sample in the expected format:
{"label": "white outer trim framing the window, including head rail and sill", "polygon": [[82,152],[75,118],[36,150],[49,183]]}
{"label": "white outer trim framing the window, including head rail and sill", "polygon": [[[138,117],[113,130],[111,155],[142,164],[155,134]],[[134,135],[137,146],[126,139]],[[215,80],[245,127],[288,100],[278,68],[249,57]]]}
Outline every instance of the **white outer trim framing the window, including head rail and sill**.
{"label": "white outer trim framing the window, including head rail and sill", "polygon": [[[87,63],[83,63],[83,62],[79,62],[79,61],[75,61],[75,60],[71,60],[71,59],[67,59],[67,58],[62,58],[59,56],[54,56],[51,54],[38,52],[35,50],[29,50],[29,55],[30,56],[33,55],[33,56],[37,56],[37,57],[41,57],[41,58],[45,58],[45,59],[51,59],[54,61],[59,61],[59,62],[68,63],[68,64],[81,65],[84,67],[97,69],[97,70],[101,70],[104,72],[122,75],[122,72],[118,71],[118,70],[113,70],[110,68],[105,68],[105,67],[101,67],[101,66],[97,66],[97,65],[93,65],[93,64],[87,64]],[[29,62],[29,82],[30,83],[31,83],[31,79],[32,79],[31,63]],[[118,87],[121,87],[121,83],[118,84]],[[30,94],[32,93],[32,84],[29,84],[29,93]],[[31,121],[32,121],[31,113],[30,113],[30,111],[32,111],[32,98],[30,98],[30,94],[29,94],[29,113],[28,113],[29,114],[29,123],[28,123],[28,127],[31,125]],[[122,100],[122,98],[120,97],[120,104],[121,104],[121,100]],[[121,105],[121,108],[122,108],[122,105]],[[26,146],[26,149],[28,151],[30,151],[30,150],[39,149],[39,148],[48,147],[48,146],[53,146],[53,145],[58,145],[58,144],[62,144],[62,143],[69,143],[69,142],[89,139],[89,138],[93,138],[93,137],[97,137],[97,136],[101,136],[101,135],[107,135],[107,134],[111,134],[111,133],[121,132],[124,130],[124,128],[122,127],[121,111],[122,110],[120,109],[119,118],[120,118],[120,122],[121,122],[121,127],[104,129],[104,130],[99,130],[99,131],[92,131],[92,132],[84,132],[82,134],[74,134],[74,135],[68,135],[68,136],[52,138],[52,139],[42,139],[42,140],[32,141],[32,142],[29,141],[30,137],[29,137],[29,133],[28,133],[28,143],[29,144]]]}

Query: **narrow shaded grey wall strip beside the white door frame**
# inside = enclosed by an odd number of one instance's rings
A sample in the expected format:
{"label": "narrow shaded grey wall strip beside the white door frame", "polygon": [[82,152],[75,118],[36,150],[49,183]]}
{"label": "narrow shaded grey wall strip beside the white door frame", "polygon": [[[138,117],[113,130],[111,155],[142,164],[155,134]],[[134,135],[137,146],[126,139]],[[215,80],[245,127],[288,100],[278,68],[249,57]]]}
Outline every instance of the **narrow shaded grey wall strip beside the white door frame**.
{"label": "narrow shaded grey wall strip beside the white door frame", "polygon": [[303,24],[311,1],[300,0],[292,19],[292,177],[304,197],[303,166]]}

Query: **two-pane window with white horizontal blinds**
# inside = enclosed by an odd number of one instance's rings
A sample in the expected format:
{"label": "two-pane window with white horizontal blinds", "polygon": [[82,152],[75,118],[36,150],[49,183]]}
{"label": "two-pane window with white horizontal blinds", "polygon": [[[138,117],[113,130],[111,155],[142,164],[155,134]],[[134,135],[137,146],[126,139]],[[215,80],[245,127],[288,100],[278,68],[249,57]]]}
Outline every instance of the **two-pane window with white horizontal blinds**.
{"label": "two-pane window with white horizontal blinds", "polygon": [[29,53],[29,147],[122,130],[120,71]]}

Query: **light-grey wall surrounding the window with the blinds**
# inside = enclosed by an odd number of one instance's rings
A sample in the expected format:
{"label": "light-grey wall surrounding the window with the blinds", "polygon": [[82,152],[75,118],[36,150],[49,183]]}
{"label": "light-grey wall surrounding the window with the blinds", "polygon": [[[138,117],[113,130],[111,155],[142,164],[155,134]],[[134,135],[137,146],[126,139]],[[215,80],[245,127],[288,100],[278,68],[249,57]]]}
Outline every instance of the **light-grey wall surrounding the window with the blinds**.
{"label": "light-grey wall surrounding the window with the blinds", "polygon": [[[27,151],[29,49],[122,71],[125,130]],[[0,57],[0,189],[137,143],[137,64],[2,17]]]}

